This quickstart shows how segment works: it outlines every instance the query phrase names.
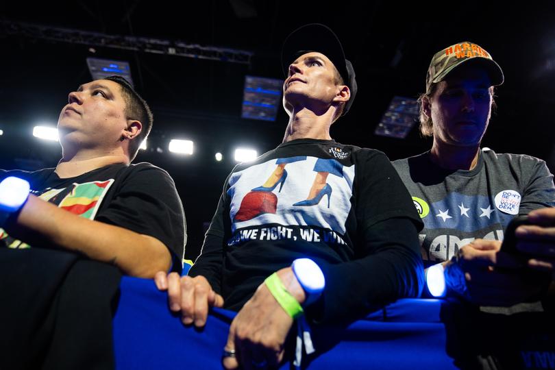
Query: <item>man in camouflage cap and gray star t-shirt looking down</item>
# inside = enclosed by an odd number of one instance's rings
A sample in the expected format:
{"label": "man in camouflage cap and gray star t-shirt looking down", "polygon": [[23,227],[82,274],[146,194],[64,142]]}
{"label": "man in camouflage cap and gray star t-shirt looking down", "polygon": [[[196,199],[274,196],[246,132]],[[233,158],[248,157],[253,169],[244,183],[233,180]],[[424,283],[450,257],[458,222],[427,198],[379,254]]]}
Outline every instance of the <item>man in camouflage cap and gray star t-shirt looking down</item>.
{"label": "man in camouflage cap and gray star t-shirt looking down", "polygon": [[532,223],[545,226],[519,227],[519,248],[535,250],[526,268],[554,271],[552,247],[526,244],[555,225],[554,210],[545,208],[555,206],[553,175],[538,158],[480,149],[493,88],[503,82],[502,69],[479,45],[459,42],[436,53],[420,98],[421,133],[433,136],[432,148],[393,162],[424,221],[425,267],[445,268],[449,291],[482,306],[511,306],[545,294],[545,284],[502,269],[522,267],[498,253],[506,226],[519,214],[530,212]]}

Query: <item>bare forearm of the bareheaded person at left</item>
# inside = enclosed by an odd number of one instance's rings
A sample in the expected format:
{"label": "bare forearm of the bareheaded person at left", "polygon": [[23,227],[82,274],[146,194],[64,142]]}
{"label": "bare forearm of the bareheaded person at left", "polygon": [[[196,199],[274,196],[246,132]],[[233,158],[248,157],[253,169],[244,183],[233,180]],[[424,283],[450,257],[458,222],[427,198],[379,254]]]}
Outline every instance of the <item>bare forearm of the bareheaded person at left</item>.
{"label": "bare forearm of the bareheaded person at left", "polygon": [[84,219],[33,195],[5,230],[29,245],[78,251],[136,277],[153,277],[171,265],[171,254],[160,240]]}

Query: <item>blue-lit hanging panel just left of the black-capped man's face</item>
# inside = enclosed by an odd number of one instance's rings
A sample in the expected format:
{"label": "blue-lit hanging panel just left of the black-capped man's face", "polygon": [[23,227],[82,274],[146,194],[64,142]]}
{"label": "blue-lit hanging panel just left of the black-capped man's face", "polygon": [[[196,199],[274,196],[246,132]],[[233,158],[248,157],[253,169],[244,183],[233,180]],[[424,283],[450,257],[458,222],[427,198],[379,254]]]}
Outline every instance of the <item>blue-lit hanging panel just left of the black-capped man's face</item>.
{"label": "blue-lit hanging panel just left of the black-capped man's face", "polygon": [[241,117],[275,121],[282,105],[282,84],[281,79],[245,76]]}

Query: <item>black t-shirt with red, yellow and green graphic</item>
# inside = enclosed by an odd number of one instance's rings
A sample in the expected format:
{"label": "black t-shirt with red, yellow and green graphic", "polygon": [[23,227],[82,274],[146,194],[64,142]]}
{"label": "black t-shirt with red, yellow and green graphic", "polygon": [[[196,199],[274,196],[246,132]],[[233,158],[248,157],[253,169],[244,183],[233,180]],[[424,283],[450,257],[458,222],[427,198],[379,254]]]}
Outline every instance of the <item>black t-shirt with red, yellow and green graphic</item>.
{"label": "black t-shirt with red, yellow and green graphic", "polygon": [[[168,247],[172,271],[182,271],[186,238],[183,206],[170,175],[149,163],[111,164],[83,175],[60,178],[55,169],[0,170],[0,180],[21,177],[31,193],[87,219],[153,236]],[[0,229],[0,245],[27,248]]]}

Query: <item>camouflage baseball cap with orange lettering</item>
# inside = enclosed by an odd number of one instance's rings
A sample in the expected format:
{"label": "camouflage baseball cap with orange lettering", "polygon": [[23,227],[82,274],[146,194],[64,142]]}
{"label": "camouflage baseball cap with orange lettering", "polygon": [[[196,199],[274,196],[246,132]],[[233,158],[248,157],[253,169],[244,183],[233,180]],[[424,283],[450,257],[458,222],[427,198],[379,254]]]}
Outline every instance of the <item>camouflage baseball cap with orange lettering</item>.
{"label": "camouflage baseball cap with orange lettering", "polygon": [[503,83],[503,71],[499,64],[493,61],[491,54],[473,42],[463,41],[434,54],[426,75],[426,94],[430,94],[432,84],[443,81],[449,72],[470,60],[473,60],[473,63],[480,63],[486,69],[492,86]]}

